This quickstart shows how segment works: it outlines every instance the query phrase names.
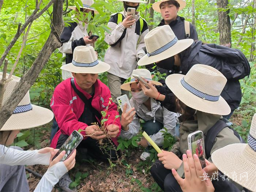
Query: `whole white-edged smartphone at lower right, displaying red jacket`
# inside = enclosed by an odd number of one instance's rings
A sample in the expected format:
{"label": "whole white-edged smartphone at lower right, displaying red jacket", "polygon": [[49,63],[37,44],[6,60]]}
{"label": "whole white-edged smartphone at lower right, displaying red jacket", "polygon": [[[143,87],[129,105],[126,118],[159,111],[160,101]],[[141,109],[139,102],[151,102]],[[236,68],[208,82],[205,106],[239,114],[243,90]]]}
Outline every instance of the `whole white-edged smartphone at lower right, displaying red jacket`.
{"label": "whole white-edged smartphone at lower right, displaying red jacket", "polygon": [[202,131],[195,131],[188,135],[188,149],[192,154],[196,154],[202,165],[202,168],[206,166],[205,164],[205,151],[204,151],[204,136]]}

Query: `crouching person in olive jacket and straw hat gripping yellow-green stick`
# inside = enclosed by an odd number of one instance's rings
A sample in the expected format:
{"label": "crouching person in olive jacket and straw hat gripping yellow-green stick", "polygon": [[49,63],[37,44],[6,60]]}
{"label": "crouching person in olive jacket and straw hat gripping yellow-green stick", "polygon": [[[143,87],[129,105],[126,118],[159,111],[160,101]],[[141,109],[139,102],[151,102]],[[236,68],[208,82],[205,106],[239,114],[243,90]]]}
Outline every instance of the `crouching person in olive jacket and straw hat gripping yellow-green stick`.
{"label": "crouching person in olive jacket and straw hat gripping yellow-green stick", "polygon": [[[229,105],[220,96],[226,82],[227,79],[221,72],[202,64],[193,65],[186,75],[172,74],[166,78],[166,85],[175,95],[176,110],[182,115],[178,117],[179,141],[173,145],[171,151],[159,153],[159,160],[150,170],[164,191],[181,191],[171,170],[177,170],[180,176],[184,174],[181,157],[188,150],[188,135],[198,130],[202,131],[204,136],[207,135],[222,115],[230,113]],[[153,87],[151,82],[148,84]],[[140,84],[140,87],[147,89],[143,84]],[[240,139],[234,135],[233,130],[225,127],[214,139],[210,154],[231,143],[240,143]],[[211,161],[211,156],[206,158]],[[211,177],[210,172],[207,174]]]}

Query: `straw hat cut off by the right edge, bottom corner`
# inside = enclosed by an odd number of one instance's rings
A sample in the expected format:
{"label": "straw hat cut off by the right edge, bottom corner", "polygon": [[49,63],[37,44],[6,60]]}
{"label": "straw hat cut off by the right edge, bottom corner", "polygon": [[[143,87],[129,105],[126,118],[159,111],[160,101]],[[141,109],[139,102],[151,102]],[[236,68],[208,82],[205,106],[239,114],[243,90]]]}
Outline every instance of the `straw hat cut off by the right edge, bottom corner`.
{"label": "straw hat cut off by the right edge, bottom corner", "polygon": [[211,159],[226,176],[256,192],[256,114],[252,118],[248,144],[227,145],[214,151]]}

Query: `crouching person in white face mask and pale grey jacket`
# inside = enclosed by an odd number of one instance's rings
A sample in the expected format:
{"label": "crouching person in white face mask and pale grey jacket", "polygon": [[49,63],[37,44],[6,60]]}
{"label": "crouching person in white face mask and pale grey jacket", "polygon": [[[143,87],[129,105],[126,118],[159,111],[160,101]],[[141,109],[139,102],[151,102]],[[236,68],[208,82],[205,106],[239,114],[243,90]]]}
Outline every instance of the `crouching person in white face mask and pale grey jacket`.
{"label": "crouching person in white face mask and pale grey jacket", "polygon": [[[147,69],[135,69],[132,74],[139,75],[147,81],[155,85],[162,85],[157,81],[151,79],[150,71]],[[126,104],[124,105],[123,113],[121,116],[121,134],[120,136],[125,139],[131,139],[138,134],[140,130],[139,118],[145,121],[142,125],[142,130],[145,131],[150,138],[158,145],[163,145],[163,131],[164,127],[169,133],[175,136],[177,113],[170,112],[162,107],[160,102],[154,98],[147,97],[138,82],[135,82],[133,75],[131,81],[121,85],[121,89],[131,91],[132,98],[130,99],[131,110],[126,111]],[[146,151],[142,153],[140,159],[143,161],[150,156],[148,149],[150,144],[146,139],[140,140],[139,145],[146,147]]]}

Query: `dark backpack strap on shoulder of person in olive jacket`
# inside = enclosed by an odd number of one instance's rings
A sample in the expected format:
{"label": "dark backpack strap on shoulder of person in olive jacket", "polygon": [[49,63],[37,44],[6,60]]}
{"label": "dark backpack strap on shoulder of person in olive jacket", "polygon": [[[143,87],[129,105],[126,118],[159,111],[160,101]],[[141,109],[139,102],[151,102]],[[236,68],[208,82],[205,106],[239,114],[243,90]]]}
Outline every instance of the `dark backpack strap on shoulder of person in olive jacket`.
{"label": "dark backpack strap on shoulder of person in olive jacket", "polygon": [[218,120],[207,132],[207,135],[204,138],[204,150],[206,159],[211,157],[211,149],[213,147],[214,140],[216,136],[219,134],[219,132],[221,132],[222,129],[224,129],[225,127],[230,128],[234,132],[234,135],[240,140],[240,143],[245,143],[245,141],[242,139],[242,137],[238,134],[237,131],[228,126],[223,120]]}

